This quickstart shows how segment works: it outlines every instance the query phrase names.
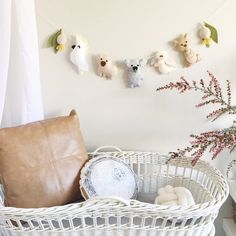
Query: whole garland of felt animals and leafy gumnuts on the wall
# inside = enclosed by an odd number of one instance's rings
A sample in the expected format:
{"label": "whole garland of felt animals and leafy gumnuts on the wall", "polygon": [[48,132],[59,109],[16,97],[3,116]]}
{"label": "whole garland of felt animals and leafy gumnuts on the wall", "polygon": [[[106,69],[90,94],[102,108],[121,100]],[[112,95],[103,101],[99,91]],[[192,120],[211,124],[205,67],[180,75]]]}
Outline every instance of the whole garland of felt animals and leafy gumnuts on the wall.
{"label": "whole garland of felt animals and leafy gumnuts on the wall", "polygon": [[[198,32],[201,44],[210,47],[213,42],[218,43],[218,32],[215,27],[204,22],[201,24]],[[63,51],[67,38],[62,29],[53,33],[48,39],[48,47],[52,47],[54,52]],[[182,53],[186,66],[192,66],[199,62],[200,55],[195,52],[190,45],[187,34],[182,34],[173,41],[176,50]],[[87,62],[88,43],[81,35],[73,38],[70,52],[70,61],[75,66],[79,75],[89,71]],[[176,63],[168,56],[166,51],[157,51],[147,59],[132,59],[123,62],[127,71],[127,86],[130,88],[141,87],[144,75],[142,68],[145,65],[154,67],[160,74],[169,74],[177,68]],[[106,54],[97,55],[97,75],[107,80],[111,80],[117,68],[115,63]]]}

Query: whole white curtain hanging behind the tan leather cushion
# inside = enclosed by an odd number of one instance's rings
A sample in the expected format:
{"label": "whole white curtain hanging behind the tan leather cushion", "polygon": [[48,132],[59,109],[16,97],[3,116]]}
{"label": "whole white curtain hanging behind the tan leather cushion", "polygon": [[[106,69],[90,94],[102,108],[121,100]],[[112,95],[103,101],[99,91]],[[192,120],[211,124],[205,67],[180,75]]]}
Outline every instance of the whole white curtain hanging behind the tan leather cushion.
{"label": "whole white curtain hanging behind the tan leather cushion", "polygon": [[34,0],[0,0],[0,122],[43,119]]}

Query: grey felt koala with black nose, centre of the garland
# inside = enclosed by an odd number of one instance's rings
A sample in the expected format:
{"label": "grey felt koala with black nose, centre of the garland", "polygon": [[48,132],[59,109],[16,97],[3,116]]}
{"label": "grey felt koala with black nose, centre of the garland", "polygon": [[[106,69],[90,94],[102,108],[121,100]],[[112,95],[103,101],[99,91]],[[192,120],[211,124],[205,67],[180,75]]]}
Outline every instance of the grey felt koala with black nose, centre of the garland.
{"label": "grey felt koala with black nose, centre of the garland", "polygon": [[125,64],[128,69],[128,86],[130,88],[140,87],[143,80],[142,67],[146,65],[146,60],[125,60]]}

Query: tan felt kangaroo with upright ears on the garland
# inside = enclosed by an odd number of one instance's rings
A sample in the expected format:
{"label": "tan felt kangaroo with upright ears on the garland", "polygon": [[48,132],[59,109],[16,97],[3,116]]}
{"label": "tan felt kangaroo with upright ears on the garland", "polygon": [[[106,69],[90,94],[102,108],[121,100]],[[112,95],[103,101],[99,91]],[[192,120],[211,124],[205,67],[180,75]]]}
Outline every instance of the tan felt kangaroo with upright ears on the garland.
{"label": "tan felt kangaroo with upright ears on the garland", "polygon": [[179,38],[174,40],[174,46],[177,50],[183,52],[187,66],[191,66],[200,61],[199,54],[194,52],[189,46],[187,34],[181,35]]}

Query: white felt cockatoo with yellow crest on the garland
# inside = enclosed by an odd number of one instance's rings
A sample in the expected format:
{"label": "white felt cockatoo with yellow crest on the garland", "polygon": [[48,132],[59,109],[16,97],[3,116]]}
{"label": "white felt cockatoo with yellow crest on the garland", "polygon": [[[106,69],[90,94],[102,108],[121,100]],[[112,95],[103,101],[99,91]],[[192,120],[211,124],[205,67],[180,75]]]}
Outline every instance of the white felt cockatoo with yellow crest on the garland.
{"label": "white felt cockatoo with yellow crest on the garland", "polygon": [[86,59],[87,43],[81,37],[75,36],[75,43],[71,46],[70,60],[76,66],[78,74],[88,71],[88,63]]}

